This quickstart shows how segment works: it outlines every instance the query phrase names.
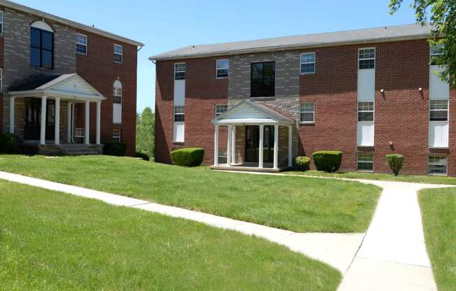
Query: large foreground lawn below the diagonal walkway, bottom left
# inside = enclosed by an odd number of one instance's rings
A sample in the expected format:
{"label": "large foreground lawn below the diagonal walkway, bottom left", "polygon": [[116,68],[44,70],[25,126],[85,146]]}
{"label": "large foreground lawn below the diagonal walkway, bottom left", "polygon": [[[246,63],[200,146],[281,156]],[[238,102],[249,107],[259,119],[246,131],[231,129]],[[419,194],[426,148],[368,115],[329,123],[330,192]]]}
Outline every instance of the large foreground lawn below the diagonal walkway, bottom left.
{"label": "large foreground lawn below the diagonal walkway, bottom left", "polygon": [[0,290],[332,290],[275,243],[0,180]]}

